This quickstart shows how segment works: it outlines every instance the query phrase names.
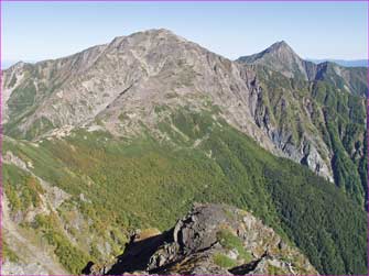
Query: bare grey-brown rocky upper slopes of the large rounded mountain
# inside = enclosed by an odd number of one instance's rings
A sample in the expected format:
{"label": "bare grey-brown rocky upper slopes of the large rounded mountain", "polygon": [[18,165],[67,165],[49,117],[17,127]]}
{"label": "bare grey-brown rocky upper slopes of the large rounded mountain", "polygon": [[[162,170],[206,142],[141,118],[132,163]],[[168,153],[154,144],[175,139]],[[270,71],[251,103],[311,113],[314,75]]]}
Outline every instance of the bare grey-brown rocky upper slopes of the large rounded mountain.
{"label": "bare grey-brown rocky upper slopes of the large rounded mountain", "polygon": [[[262,60],[271,53],[279,53],[274,59],[279,60],[278,69],[284,74],[292,76],[295,74],[292,67],[297,66],[300,75],[307,75],[304,68],[310,65],[284,42],[274,44],[267,52]],[[259,63],[260,58],[252,59]],[[272,64],[276,64],[274,59]],[[302,106],[315,101],[308,81],[303,88],[297,87],[301,95],[293,102],[287,97],[274,99],[279,100],[275,104],[285,104],[281,106],[282,117],[273,118],[271,113],[276,107],[268,107],[263,96],[271,89],[264,91],[259,81],[263,75],[259,76],[252,66],[234,63],[166,30],[117,37],[107,45],[66,58],[34,65],[18,64],[3,75],[4,132],[13,137],[37,140],[43,135],[67,133],[82,125],[104,128],[122,136],[134,136],[145,125],[161,136],[155,128],[155,123],[163,120],[155,112],[158,106],[188,106],[196,110],[214,106],[231,125],[273,154],[307,165],[332,181],[337,178],[332,167],[334,151],[319,134],[318,126],[308,119],[312,117],[308,107]],[[278,85],[276,89],[283,93],[286,89],[295,93],[294,87]],[[332,86],[336,91],[337,87]],[[358,109],[360,123],[366,120],[363,99],[345,101],[339,104],[348,113]],[[348,101],[354,101],[355,107]],[[292,115],[292,122],[283,122],[286,112]],[[363,136],[359,135],[358,143],[363,144],[362,141]],[[361,146],[359,158],[362,158],[362,152]],[[358,200],[362,201],[363,185],[358,184],[357,176],[355,178],[355,185],[359,186],[355,188]]]}

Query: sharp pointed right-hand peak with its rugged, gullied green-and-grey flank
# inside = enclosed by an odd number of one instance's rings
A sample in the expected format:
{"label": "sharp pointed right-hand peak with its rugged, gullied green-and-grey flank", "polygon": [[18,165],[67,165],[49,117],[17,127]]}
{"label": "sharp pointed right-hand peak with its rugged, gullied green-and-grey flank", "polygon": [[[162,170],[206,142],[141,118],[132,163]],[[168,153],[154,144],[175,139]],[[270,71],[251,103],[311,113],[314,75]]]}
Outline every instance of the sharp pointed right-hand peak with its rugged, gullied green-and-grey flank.
{"label": "sharp pointed right-hand peak with its rugged, gullied green-and-grey flank", "polygon": [[316,65],[285,42],[236,62],[257,73],[252,114],[273,144],[367,206],[368,69]]}

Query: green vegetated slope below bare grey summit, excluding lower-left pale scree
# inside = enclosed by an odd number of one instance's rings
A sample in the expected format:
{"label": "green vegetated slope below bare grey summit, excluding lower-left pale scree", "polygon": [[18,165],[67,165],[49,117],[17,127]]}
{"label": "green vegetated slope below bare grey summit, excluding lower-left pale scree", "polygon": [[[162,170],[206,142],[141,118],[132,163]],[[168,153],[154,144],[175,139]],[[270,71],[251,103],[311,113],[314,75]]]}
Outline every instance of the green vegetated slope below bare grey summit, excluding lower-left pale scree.
{"label": "green vegetated slope below bare grey summit, excluding lower-left pale scree", "polygon": [[[252,210],[321,273],[367,273],[366,213],[334,185],[205,112],[178,111],[160,129],[175,145],[148,133],[122,141],[78,131],[39,147],[6,143],[4,151],[32,161],[37,176],[74,196],[70,205],[93,221],[86,233],[110,239],[138,227],[164,230],[194,201],[226,202]],[[90,201],[80,200],[82,192]],[[37,231],[45,228],[40,224]],[[115,240],[123,244],[124,238]]]}

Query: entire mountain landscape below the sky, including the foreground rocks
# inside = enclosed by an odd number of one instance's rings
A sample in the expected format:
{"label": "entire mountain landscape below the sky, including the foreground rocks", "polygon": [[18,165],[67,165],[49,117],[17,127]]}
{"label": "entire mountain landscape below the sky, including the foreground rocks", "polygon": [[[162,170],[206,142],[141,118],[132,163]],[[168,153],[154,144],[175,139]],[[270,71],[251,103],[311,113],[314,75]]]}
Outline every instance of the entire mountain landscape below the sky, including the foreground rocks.
{"label": "entire mountain landscape below the sky, including the foreground rocks", "polygon": [[367,274],[367,68],[161,29],[2,74],[2,274]]}

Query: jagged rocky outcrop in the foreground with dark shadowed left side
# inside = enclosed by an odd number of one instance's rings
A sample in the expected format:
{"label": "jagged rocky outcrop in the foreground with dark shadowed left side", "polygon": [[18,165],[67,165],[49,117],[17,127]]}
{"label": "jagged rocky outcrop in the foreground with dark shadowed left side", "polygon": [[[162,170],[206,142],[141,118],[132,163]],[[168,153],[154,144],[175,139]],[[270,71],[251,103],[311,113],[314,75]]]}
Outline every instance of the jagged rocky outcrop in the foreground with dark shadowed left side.
{"label": "jagged rocky outcrop in the foreground with dark shadowed left side", "polygon": [[175,227],[132,236],[112,264],[88,264],[85,274],[317,275],[308,260],[251,213],[196,205]]}

